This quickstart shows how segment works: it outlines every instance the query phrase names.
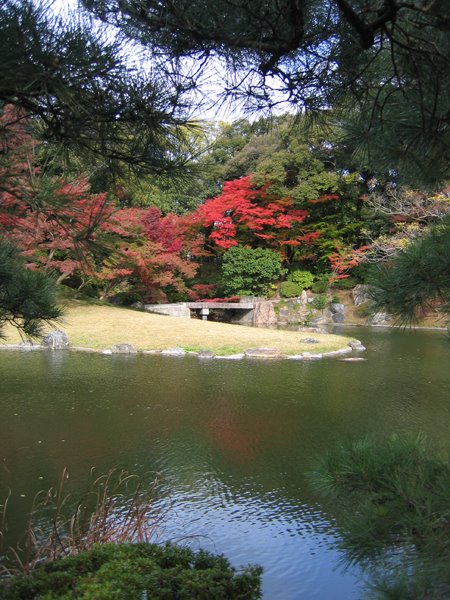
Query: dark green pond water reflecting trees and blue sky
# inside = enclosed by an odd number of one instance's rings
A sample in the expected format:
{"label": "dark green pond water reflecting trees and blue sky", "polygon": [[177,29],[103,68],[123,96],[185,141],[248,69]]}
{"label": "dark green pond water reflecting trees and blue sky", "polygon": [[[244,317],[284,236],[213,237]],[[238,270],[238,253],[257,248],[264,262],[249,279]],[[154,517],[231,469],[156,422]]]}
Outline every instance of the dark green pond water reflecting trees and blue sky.
{"label": "dark green pond water reflecting trees and blue sky", "polygon": [[449,447],[450,343],[435,331],[340,330],[364,362],[200,361],[68,352],[0,354],[0,504],[9,542],[38,490],[68,468],[162,475],[159,539],[264,567],[270,600],[363,598],[314,461],[368,433],[425,432]]}

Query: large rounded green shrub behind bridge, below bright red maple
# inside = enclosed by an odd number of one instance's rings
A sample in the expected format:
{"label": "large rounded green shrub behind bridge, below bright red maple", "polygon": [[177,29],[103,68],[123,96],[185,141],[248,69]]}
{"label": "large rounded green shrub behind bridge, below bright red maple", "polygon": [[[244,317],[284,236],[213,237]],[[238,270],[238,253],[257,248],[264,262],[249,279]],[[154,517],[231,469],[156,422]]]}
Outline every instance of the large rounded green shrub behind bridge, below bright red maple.
{"label": "large rounded green shrub behind bridge, below bright red maple", "polygon": [[268,248],[234,246],[223,257],[223,291],[227,295],[265,296],[283,274],[281,256]]}

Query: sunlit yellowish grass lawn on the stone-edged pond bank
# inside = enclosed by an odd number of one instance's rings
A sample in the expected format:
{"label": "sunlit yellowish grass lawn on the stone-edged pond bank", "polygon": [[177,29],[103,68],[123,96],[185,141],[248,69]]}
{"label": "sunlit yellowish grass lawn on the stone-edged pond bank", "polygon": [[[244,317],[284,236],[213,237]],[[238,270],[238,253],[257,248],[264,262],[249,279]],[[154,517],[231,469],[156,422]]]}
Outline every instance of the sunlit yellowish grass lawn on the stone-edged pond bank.
{"label": "sunlit yellowish grass lawn on the stone-edged pond bank", "polygon": [[[215,354],[235,354],[248,348],[277,348],[283,354],[330,352],[345,348],[350,340],[331,334],[307,334],[214,323],[197,319],[180,319],[107,304],[80,301],[66,303],[66,312],[57,325],[69,336],[70,346],[106,349],[113,344],[128,343],[138,350],[211,350]],[[54,329],[54,327],[48,328]],[[17,343],[20,337],[12,328],[6,329],[4,343]],[[311,337],[319,343],[308,344]]]}

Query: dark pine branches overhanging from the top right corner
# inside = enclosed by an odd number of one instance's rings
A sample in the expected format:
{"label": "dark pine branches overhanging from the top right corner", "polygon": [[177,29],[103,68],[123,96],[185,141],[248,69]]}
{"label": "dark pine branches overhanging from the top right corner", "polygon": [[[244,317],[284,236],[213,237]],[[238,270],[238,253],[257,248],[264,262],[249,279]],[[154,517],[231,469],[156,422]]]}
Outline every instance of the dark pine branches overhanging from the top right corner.
{"label": "dark pine branches overhanging from the top right corner", "polygon": [[219,59],[228,96],[256,109],[339,108],[371,163],[426,182],[449,174],[447,0],[82,2],[178,72],[200,61],[193,85]]}

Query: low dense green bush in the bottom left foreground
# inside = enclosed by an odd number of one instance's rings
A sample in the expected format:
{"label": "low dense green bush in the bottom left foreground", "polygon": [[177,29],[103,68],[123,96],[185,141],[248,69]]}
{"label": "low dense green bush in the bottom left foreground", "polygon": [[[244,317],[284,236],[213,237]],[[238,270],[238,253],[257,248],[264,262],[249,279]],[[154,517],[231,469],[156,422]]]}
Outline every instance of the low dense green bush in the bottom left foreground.
{"label": "low dense green bush in the bottom left foreground", "polygon": [[167,544],[95,545],[0,583],[1,600],[253,600],[260,567],[241,573],[223,556]]}

